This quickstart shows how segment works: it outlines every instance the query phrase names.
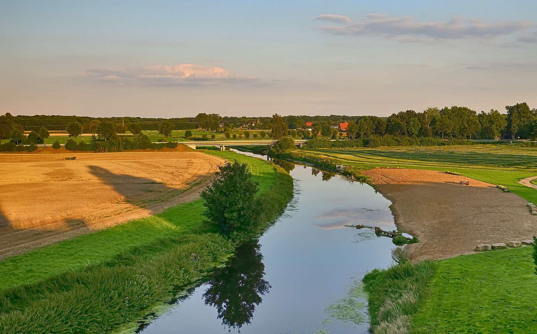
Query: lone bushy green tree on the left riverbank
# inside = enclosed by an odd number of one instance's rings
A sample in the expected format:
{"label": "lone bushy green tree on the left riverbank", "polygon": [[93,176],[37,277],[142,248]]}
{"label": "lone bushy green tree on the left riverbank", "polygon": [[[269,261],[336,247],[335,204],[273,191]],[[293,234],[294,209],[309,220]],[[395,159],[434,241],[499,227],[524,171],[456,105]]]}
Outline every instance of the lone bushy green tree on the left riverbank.
{"label": "lone bushy green tree on the left riverbank", "polygon": [[202,215],[217,223],[222,233],[251,227],[257,216],[259,184],[252,181],[248,165],[226,162],[214,175],[213,183],[201,192]]}

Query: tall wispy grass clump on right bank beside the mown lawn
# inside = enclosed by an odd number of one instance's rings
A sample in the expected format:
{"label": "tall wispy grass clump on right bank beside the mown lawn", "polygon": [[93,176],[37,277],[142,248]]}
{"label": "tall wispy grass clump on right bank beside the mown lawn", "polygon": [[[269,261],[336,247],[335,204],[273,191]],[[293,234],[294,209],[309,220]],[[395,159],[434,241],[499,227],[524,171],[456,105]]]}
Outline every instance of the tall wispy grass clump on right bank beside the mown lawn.
{"label": "tall wispy grass clump on right bank beside the mown lawn", "polygon": [[431,281],[436,262],[424,260],[412,264],[405,256],[394,253],[400,263],[387,269],[374,269],[364,276],[368,292],[370,330],[374,334],[411,332],[412,315],[423,303],[426,286]]}

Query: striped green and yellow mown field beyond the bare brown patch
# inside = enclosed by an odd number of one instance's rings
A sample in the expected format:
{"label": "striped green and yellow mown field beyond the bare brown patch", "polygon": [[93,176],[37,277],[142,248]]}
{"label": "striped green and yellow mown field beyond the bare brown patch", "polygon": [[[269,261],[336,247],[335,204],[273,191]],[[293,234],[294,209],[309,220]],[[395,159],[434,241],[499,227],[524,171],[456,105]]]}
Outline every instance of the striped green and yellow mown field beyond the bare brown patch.
{"label": "striped green and yellow mown field beyond the bare brown patch", "polygon": [[451,170],[495,185],[509,187],[520,197],[537,202],[537,190],[518,180],[537,176],[537,148],[502,145],[318,149],[306,153],[342,159],[360,169],[375,166]]}

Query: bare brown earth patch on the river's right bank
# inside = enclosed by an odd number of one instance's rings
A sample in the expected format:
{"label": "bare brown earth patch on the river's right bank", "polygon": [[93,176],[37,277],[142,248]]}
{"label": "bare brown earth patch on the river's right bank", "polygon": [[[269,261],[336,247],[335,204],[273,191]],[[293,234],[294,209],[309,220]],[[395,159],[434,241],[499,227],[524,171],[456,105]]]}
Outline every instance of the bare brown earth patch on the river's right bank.
{"label": "bare brown earth patch on the river's right bank", "polygon": [[362,174],[393,203],[397,228],[421,241],[408,246],[413,260],[469,254],[477,244],[537,235],[537,216],[529,212],[527,201],[494,185],[419,169],[372,169]]}

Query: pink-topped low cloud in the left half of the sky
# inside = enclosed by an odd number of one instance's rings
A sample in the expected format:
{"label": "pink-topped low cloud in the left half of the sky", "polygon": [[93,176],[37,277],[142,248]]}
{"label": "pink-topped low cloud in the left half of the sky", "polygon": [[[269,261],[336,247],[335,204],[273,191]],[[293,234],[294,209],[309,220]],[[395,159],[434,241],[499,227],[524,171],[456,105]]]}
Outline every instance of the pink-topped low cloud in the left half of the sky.
{"label": "pink-topped low cloud in the left half of the sky", "polygon": [[92,81],[142,85],[215,85],[248,82],[243,77],[214,66],[180,64],[175,66],[143,66],[128,69],[89,69],[82,77]]}

